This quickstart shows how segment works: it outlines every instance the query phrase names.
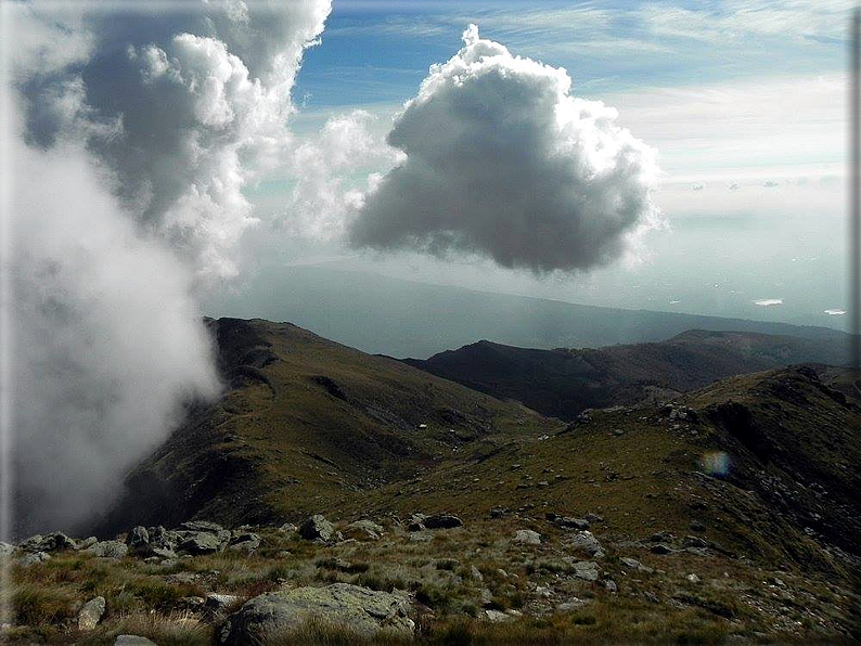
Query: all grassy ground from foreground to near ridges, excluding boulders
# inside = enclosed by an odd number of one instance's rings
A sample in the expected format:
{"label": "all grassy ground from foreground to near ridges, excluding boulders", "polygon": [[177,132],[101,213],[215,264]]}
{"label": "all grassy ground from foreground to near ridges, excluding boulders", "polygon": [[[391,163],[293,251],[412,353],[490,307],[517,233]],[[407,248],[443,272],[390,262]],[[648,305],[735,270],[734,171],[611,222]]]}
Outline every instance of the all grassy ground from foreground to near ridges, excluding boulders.
{"label": "all grassy ground from foreground to near ridges, excluding boulders", "polygon": [[[735,376],[567,424],[286,323],[209,325],[229,390],[130,475],[100,533],[198,518],[250,524],[260,547],[15,566],[26,625],[11,636],[213,644],[220,620],[187,597],[239,605],[333,582],[409,592],[425,644],[846,643],[858,631],[861,408],[845,371]],[[464,527],[410,531],[416,512]],[[348,540],[274,529],[310,514]],[[383,538],[349,540],[358,518]],[[582,522],[603,555],[578,544]],[[77,607],[95,595],[105,617],[79,633]],[[310,623],[271,643],[402,638]]]}

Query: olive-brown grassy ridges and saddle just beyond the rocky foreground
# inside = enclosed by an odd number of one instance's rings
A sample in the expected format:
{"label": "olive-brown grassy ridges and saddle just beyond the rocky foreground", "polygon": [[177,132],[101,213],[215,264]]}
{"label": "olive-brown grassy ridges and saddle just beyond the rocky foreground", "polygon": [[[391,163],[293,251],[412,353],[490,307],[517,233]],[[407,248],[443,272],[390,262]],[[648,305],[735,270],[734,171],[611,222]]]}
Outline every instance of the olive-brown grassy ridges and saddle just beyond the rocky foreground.
{"label": "olive-brown grassy ridges and saddle just beyond the rocky foreground", "polygon": [[231,390],[136,469],[103,533],[509,507],[600,514],[618,540],[703,524],[730,554],[826,570],[830,545],[857,551],[861,411],[808,369],[569,426],[287,323],[210,325]]}

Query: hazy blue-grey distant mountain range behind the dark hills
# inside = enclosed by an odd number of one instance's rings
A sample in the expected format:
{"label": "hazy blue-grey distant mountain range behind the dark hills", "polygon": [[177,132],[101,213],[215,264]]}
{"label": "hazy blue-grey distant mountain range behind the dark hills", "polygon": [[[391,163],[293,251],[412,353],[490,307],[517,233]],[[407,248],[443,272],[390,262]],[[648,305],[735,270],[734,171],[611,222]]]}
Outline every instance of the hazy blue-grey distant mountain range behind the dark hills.
{"label": "hazy blue-grey distant mountain range behind the dark hills", "polygon": [[318,267],[279,268],[206,303],[219,316],[292,321],[365,352],[424,359],[476,339],[524,348],[597,348],[663,341],[689,330],[753,332],[828,340],[811,327],[673,312],[625,310],[474,292]]}

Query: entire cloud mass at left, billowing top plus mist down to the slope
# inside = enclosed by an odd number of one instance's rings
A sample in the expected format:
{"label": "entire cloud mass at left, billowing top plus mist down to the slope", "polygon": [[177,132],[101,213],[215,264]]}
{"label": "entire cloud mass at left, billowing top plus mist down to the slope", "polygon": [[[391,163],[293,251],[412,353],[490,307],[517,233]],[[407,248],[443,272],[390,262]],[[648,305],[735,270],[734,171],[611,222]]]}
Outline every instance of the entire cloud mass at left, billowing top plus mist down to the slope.
{"label": "entire cloud mass at left, billowing top plus mist down to the slope", "polygon": [[243,188],[292,154],[291,89],[330,11],[104,7],[7,14],[18,533],[104,509],[183,404],[217,395],[195,290],[236,271]]}

